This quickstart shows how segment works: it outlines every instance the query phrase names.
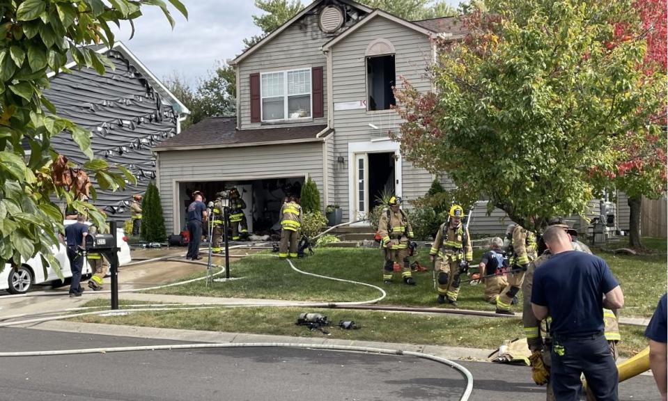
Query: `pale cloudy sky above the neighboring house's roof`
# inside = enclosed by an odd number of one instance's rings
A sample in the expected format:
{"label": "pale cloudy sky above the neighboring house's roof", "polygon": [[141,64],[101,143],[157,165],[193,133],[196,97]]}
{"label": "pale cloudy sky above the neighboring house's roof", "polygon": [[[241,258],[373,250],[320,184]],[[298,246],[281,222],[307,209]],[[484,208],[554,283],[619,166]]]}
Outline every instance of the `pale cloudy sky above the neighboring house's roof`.
{"label": "pale cloudy sky above the neighboring house's roof", "polygon": [[[164,80],[178,74],[192,88],[208,76],[219,61],[235,58],[244,48],[244,38],[259,35],[252,15],[260,14],[253,0],[181,0],[188,10],[186,20],[171,8],[176,26],[157,7],[143,7],[143,15],[116,32],[121,40],[155,77]],[[302,0],[308,4],[310,1]],[[459,0],[447,0],[456,6]]]}

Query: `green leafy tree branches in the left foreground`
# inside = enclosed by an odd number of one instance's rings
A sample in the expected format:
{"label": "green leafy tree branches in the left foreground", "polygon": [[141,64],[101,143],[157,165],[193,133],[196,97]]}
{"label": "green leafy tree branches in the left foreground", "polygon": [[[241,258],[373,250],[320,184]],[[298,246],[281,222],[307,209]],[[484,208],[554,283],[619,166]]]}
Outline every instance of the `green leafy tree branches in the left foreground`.
{"label": "green leafy tree branches in the left foreground", "polygon": [[[180,1],[169,3],[187,16]],[[104,227],[102,214],[83,201],[84,195],[95,198],[87,173],[95,174],[101,189],[134,181],[122,166],[95,159],[91,132],[59,117],[42,91],[49,86],[48,72],[68,72],[68,56],[77,68],[103,74],[111,63],[85,46],[111,45],[109,25],[127,21],[133,28],[145,6],[159,6],[173,24],[166,3],[157,0],[0,1],[0,269],[40,252],[59,271],[51,245],[58,242],[63,215],[52,200],[88,211]],[[71,136],[88,162],[75,166],[57,155],[51,146],[56,135]],[[27,161],[23,143],[31,148]]]}

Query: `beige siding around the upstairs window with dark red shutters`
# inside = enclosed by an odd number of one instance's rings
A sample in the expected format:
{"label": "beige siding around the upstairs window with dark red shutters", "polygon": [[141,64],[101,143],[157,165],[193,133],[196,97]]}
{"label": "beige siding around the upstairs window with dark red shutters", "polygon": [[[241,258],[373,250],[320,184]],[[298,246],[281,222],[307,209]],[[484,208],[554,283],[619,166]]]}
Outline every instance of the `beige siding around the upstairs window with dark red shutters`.
{"label": "beige siding around the upstairs window with dark red shutters", "polygon": [[[323,68],[324,116],[302,122],[277,125],[321,125],[327,124],[327,58],[320,47],[333,36],[325,35],[318,26],[319,8],[313,13],[304,15],[300,21],[293,23],[279,36],[267,42],[257,52],[239,63],[239,96],[240,96],[240,129],[251,129],[266,126],[268,123],[251,123],[251,101],[249,75],[255,72],[271,72],[294,70],[297,68]],[[311,113],[313,108],[311,107]],[[263,125],[264,124],[264,125]]]}

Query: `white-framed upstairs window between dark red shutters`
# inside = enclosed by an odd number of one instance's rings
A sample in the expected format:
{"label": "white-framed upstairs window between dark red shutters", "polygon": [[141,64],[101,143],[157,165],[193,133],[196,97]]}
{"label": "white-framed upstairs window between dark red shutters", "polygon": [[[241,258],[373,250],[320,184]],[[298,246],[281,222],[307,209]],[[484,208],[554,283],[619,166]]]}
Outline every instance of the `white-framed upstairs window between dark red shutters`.
{"label": "white-framed upstairs window between dark red shutters", "polygon": [[262,120],[311,118],[311,69],[261,74]]}

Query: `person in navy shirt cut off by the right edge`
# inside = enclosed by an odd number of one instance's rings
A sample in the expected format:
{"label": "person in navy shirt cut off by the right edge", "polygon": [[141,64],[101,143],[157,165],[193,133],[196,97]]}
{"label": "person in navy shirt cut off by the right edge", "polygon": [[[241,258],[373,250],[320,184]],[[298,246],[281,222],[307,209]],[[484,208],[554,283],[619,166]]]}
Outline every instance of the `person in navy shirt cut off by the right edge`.
{"label": "person in navy shirt cut off by the right edge", "polygon": [[666,294],[659,300],[652,320],[645,329],[645,337],[649,338],[649,367],[661,393],[661,400],[668,400],[667,388],[667,357],[666,357]]}

